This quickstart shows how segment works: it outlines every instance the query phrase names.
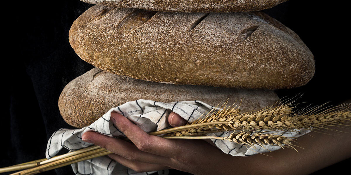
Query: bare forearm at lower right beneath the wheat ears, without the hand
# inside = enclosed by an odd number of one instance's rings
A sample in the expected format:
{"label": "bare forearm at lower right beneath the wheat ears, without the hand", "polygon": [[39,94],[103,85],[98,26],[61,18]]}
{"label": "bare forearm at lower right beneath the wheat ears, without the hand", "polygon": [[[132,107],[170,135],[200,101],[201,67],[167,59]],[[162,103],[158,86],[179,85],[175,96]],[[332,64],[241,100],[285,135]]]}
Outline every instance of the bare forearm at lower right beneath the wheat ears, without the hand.
{"label": "bare forearm at lower right beneath the wheat ears, without the hand", "polygon": [[266,155],[233,157],[228,162],[237,169],[236,174],[309,174],[351,157],[351,127],[330,128],[342,132],[311,132],[299,137],[295,145],[304,149],[296,147],[298,152],[285,148]]}

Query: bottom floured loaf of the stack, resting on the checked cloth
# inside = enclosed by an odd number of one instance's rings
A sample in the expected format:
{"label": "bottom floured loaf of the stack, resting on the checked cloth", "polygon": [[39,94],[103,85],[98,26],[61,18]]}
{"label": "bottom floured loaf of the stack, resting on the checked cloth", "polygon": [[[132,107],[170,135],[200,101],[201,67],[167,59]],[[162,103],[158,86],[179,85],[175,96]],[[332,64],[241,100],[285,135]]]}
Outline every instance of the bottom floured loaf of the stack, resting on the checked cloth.
{"label": "bottom floured loaf of the stack, resting on the checked cloth", "polygon": [[271,90],[163,84],[94,68],[66,85],[59,98],[59,109],[69,125],[82,128],[111,108],[138,99],[166,103],[200,100],[216,106],[228,98],[230,105],[242,100],[240,109],[243,111],[263,108],[279,101],[277,94]]}

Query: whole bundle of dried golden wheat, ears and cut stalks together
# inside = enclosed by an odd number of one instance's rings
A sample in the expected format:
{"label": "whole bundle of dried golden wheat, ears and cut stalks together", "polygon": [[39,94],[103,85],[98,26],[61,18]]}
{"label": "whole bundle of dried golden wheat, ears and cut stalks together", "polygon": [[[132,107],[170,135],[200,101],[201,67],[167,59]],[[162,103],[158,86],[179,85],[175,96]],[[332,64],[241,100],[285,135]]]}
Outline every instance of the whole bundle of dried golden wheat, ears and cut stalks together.
{"label": "whole bundle of dried golden wheat, ears and cut stalks together", "polygon": [[[351,121],[350,104],[343,104],[324,110],[322,106],[306,108],[297,112],[293,111],[292,103],[266,107],[251,112],[240,112],[237,106],[220,107],[221,110],[211,110],[198,120],[185,126],[174,127],[166,130],[151,132],[151,135],[163,135],[166,139],[220,139],[235,142],[237,144],[254,147],[264,145],[291,147],[292,138],[287,138],[279,133],[281,130],[315,130],[330,125],[344,125]],[[323,111],[324,110],[324,111]],[[322,111],[322,112],[320,112]],[[238,131],[241,130],[241,131]],[[228,137],[199,136],[206,133],[234,131]],[[267,133],[267,131],[274,131]],[[296,150],[296,149],[295,149]],[[104,148],[92,146],[78,151],[56,156],[49,160],[37,160],[22,163],[17,166],[0,168],[0,171],[13,168],[28,168],[33,164],[38,167],[23,170],[15,174],[37,174],[39,172],[70,165],[75,162],[96,158],[111,154]]]}

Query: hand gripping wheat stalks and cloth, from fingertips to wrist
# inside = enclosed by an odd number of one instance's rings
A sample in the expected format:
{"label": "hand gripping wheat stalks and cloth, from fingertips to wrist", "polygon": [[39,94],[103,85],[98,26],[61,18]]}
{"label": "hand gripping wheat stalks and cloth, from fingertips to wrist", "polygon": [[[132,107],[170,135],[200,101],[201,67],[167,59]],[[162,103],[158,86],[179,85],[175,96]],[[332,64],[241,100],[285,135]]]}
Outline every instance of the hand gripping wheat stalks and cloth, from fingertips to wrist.
{"label": "hand gripping wheat stalks and cloth, from fingertips to wrist", "polygon": [[[226,174],[226,159],[218,148],[204,140],[164,139],[149,135],[137,125],[118,113],[111,113],[111,121],[131,141],[111,138],[95,132],[86,132],[82,139],[114,154],[110,158],[137,172],[162,169],[178,169],[192,174]],[[172,126],[181,126],[186,121],[172,112],[168,118]],[[213,168],[216,167],[216,168]]]}

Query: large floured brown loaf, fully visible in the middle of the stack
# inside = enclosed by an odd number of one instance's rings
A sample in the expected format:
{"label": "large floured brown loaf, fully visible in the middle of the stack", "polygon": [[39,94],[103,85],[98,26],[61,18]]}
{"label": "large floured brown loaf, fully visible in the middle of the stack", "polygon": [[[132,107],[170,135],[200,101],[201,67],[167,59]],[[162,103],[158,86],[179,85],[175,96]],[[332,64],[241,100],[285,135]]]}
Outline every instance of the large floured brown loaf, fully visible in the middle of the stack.
{"label": "large floured brown loaf, fully visible in the middle of the stack", "polygon": [[102,70],[170,84],[282,89],[314,74],[311,51],[261,12],[171,13],[93,6],[69,42]]}

